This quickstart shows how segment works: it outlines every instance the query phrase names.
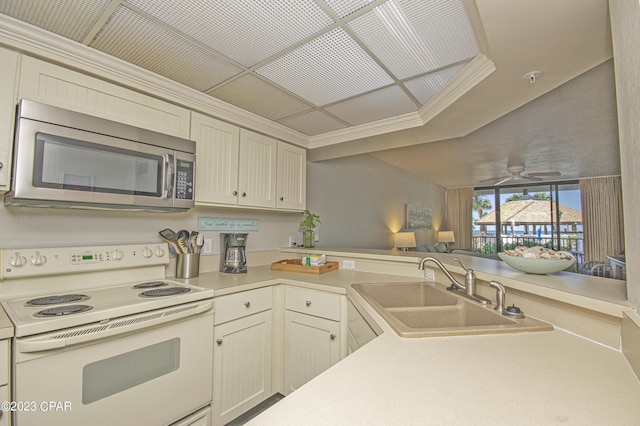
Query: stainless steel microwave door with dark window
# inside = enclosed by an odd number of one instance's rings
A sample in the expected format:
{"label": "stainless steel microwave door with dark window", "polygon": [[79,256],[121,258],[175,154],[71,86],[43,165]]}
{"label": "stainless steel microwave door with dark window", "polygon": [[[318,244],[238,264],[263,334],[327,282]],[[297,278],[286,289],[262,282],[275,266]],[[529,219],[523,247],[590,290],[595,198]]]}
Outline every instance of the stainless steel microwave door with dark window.
{"label": "stainless steel microwave door with dark window", "polygon": [[21,119],[16,150],[16,199],[172,207],[164,148]]}

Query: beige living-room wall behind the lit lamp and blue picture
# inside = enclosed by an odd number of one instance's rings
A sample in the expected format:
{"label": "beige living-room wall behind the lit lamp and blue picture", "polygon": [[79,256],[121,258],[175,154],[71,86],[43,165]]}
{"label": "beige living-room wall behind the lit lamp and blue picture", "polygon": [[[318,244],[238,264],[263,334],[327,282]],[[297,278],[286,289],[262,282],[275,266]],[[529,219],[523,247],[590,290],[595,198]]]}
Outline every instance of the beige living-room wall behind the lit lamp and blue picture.
{"label": "beige living-room wall behind the lit lamp and blue picture", "polygon": [[419,245],[432,243],[444,188],[368,154],[307,163],[307,207],[322,221],[319,248],[392,248],[407,203],[432,209],[434,229],[416,231]]}

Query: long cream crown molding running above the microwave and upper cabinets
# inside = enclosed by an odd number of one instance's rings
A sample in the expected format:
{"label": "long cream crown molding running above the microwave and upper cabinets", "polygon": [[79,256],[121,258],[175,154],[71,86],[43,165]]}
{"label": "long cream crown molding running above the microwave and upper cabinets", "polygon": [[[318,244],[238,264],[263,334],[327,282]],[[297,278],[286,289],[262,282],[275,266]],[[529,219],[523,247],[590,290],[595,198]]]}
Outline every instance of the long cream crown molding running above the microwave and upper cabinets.
{"label": "long cream crown molding running above the microwave and upper cabinets", "polygon": [[0,15],[0,45],[235,125],[309,147],[309,137],[91,47]]}

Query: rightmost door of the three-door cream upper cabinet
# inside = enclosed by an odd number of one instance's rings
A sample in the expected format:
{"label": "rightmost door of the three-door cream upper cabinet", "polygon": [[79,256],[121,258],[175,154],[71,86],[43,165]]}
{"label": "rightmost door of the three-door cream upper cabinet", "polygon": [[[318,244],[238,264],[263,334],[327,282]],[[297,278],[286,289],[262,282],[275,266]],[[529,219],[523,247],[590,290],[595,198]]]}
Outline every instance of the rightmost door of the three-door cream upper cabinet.
{"label": "rightmost door of the three-door cream upper cabinet", "polygon": [[304,210],[307,205],[307,151],[278,141],[276,206]]}

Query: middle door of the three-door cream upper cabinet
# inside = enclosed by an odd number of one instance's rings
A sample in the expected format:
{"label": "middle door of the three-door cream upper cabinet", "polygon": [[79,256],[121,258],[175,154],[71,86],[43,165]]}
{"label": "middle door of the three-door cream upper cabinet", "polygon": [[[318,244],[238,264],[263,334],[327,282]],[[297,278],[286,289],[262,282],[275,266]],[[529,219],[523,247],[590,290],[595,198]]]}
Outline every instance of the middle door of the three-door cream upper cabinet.
{"label": "middle door of the three-door cream upper cabinet", "polygon": [[277,150],[277,140],[240,130],[239,205],[276,207]]}

